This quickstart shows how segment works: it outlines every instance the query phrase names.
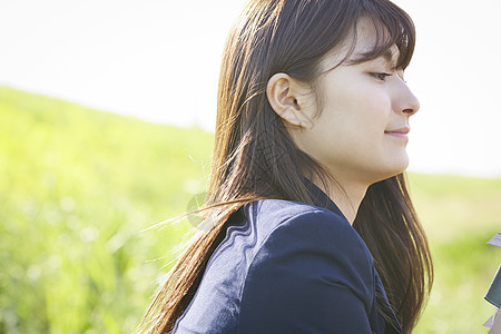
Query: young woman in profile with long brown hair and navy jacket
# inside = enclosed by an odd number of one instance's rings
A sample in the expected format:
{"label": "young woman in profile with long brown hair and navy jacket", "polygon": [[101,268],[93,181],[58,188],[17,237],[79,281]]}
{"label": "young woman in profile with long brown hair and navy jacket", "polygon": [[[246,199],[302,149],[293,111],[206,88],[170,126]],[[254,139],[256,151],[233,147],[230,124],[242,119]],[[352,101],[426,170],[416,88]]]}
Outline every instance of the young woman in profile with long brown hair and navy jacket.
{"label": "young woman in profile with long brown hair and navy jacket", "polygon": [[432,285],[403,170],[415,41],[387,0],[253,0],[228,37],[204,232],[149,333],[410,333]]}

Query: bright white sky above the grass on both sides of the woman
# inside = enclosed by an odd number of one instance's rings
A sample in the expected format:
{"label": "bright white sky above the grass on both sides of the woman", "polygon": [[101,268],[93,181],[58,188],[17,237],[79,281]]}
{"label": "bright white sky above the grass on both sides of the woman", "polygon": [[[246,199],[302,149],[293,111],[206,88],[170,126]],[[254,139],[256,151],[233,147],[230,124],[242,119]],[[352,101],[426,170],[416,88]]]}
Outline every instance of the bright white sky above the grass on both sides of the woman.
{"label": "bright white sky above the grass on both sides of the woman", "polygon": [[[418,45],[411,170],[501,176],[497,0],[399,0]],[[213,130],[219,59],[243,0],[0,0],[0,85]]]}

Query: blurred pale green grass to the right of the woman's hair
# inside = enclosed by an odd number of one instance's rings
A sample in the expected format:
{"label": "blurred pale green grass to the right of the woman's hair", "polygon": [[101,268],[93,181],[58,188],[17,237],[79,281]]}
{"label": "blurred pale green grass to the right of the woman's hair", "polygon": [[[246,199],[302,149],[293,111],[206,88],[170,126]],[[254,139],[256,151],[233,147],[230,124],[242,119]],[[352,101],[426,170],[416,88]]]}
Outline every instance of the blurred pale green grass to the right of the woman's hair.
{"label": "blurred pale green grass to the right of the woman's hair", "polygon": [[495,308],[483,299],[501,262],[485,243],[501,232],[501,179],[409,176],[435,265],[435,284],[415,333],[487,333]]}

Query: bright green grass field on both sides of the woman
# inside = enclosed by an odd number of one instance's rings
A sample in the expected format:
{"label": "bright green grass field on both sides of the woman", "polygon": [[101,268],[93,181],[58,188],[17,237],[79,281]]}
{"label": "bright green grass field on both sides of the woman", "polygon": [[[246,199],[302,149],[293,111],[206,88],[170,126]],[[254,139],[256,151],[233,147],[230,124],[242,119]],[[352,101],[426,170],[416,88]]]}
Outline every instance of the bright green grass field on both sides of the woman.
{"label": "bright green grass field on both sides of the woman", "polygon": [[[181,112],[181,111],[179,111]],[[0,333],[130,333],[190,230],[213,135],[0,87]],[[414,333],[485,333],[501,179],[410,175],[435,285]]]}

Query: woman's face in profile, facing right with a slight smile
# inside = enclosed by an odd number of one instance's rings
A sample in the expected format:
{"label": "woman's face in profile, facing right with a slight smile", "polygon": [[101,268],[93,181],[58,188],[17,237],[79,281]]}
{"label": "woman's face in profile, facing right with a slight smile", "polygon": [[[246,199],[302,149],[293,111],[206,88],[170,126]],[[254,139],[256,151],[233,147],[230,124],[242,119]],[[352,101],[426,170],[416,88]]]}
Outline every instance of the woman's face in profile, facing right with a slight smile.
{"label": "woman's face in profile, facing right with a slight smile", "polygon": [[[351,58],[372,49],[375,33],[372,21],[361,19]],[[343,50],[333,52],[321,63],[327,70],[317,94],[321,116],[313,119],[312,128],[292,135],[302,150],[340,181],[372,184],[407,167],[409,118],[418,111],[419,101],[403,80],[403,71],[394,69],[396,46],[385,57],[357,65],[348,65],[348,59],[328,71],[344,55]],[[306,106],[311,110],[303,111],[313,117],[315,104]]]}

